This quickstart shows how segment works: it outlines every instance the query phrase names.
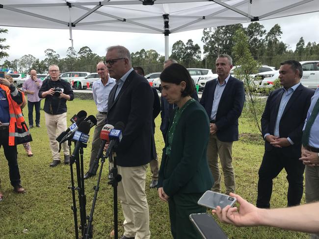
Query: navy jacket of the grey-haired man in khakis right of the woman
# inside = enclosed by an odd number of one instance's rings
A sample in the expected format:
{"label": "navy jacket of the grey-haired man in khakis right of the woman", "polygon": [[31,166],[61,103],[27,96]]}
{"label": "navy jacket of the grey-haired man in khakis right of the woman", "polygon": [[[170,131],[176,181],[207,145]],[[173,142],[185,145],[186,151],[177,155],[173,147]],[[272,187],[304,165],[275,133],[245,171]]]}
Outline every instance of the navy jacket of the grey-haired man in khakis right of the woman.
{"label": "navy jacket of the grey-haired man in khakis right of the woman", "polygon": [[[209,118],[212,114],[216,84],[216,79],[207,81],[200,100]],[[238,140],[238,118],[241,115],[244,99],[245,91],[243,82],[230,76],[217,108],[215,120],[218,128],[216,132],[218,140],[223,142]]]}

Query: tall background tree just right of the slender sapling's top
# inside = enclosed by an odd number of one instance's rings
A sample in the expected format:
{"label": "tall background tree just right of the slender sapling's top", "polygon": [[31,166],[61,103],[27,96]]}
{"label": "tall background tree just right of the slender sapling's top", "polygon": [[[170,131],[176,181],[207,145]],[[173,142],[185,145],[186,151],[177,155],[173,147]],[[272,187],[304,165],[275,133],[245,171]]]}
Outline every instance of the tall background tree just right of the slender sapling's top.
{"label": "tall background tree just right of the slender sapling's top", "polygon": [[266,30],[264,25],[254,22],[245,28],[246,35],[248,36],[249,50],[254,59],[259,59],[259,56],[264,54],[265,51],[265,35]]}

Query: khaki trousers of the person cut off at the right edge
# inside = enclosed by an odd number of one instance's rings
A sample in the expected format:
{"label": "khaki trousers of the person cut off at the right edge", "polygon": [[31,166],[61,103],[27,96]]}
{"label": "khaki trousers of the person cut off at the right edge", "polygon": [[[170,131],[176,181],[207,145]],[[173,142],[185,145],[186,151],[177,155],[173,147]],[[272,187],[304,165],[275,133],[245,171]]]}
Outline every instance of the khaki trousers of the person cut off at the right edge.
{"label": "khaki trousers of the person cut off at the right edge", "polygon": [[[306,166],[306,203],[319,201],[319,167]],[[311,234],[311,239],[319,239],[319,234]]]}

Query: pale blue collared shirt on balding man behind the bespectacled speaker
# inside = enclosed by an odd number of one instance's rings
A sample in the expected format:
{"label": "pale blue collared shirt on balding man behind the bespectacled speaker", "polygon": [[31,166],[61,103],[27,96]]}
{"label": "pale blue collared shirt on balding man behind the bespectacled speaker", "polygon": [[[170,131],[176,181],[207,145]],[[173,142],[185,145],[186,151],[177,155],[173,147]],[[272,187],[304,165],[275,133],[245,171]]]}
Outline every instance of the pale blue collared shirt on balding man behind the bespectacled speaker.
{"label": "pale blue collared shirt on balding man behind the bespectacled speaker", "polygon": [[93,83],[93,99],[99,112],[107,112],[108,95],[115,84],[115,79],[111,77],[108,77],[106,85],[103,84],[101,79]]}

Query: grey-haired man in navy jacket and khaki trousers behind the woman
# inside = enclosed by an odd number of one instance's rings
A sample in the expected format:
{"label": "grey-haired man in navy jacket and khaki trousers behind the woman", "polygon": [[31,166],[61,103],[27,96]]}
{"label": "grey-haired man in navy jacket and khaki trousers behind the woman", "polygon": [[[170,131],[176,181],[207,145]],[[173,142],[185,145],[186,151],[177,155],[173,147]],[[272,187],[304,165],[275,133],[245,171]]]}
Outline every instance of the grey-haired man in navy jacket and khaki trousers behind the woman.
{"label": "grey-haired man in navy jacket and khaki trousers behind the woman", "polygon": [[215,182],[212,190],[220,192],[219,156],[227,194],[235,192],[232,145],[234,141],[238,141],[238,118],[245,98],[243,82],[230,75],[232,64],[233,60],[229,55],[218,56],[218,77],[206,83],[200,100],[211,120],[207,159]]}

